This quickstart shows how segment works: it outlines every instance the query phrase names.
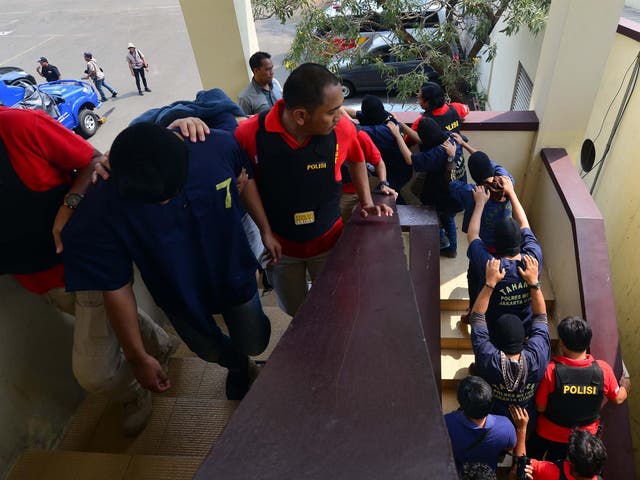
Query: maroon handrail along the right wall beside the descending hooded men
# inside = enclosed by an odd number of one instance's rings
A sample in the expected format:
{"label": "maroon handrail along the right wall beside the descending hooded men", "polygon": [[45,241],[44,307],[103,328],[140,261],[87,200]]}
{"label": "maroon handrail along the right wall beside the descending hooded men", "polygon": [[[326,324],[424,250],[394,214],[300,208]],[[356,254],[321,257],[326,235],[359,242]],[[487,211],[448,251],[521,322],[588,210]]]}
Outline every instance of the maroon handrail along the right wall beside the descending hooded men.
{"label": "maroon handrail along the right wall beside the descending hooded men", "polygon": [[[541,155],[573,228],[582,315],[593,330],[591,353],[619,377],[622,357],[604,220],[566,150],[545,148]],[[609,403],[601,416],[608,454],[604,478],[637,478],[628,403]]]}

